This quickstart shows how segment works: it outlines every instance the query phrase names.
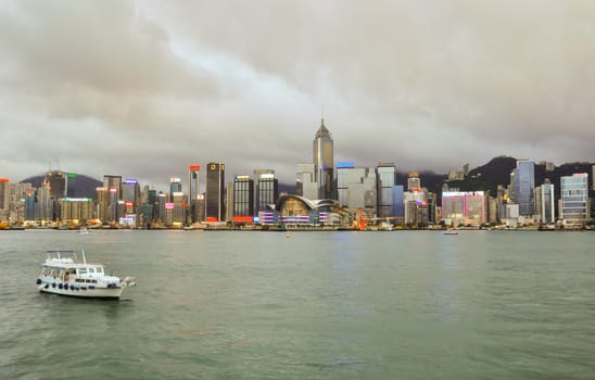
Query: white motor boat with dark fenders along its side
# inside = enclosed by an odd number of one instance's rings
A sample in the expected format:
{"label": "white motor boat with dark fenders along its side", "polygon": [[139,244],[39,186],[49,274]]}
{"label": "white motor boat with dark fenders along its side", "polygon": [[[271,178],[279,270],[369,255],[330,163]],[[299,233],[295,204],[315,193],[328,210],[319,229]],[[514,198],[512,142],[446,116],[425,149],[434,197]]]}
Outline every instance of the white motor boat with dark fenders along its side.
{"label": "white motor boat with dark fenders along its side", "polygon": [[134,277],[107,276],[101,264],[89,264],[81,251],[47,251],[48,257],[37,279],[40,292],[78,297],[118,299],[124,289],[136,286]]}

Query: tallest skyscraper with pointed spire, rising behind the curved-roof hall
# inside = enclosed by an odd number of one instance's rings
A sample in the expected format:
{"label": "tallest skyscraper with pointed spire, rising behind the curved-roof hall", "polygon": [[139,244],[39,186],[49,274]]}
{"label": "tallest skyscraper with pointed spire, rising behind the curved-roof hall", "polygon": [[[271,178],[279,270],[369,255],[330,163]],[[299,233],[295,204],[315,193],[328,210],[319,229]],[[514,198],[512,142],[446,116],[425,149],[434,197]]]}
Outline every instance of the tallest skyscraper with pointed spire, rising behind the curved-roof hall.
{"label": "tallest skyscraper with pointed spire, rising behind the curved-roof hall", "polygon": [[318,199],[334,199],[333,157],[332,136],[325,126],[325,119],[322,118],[313,142],[313,162],[316,170],[315,180],[318,183]]}

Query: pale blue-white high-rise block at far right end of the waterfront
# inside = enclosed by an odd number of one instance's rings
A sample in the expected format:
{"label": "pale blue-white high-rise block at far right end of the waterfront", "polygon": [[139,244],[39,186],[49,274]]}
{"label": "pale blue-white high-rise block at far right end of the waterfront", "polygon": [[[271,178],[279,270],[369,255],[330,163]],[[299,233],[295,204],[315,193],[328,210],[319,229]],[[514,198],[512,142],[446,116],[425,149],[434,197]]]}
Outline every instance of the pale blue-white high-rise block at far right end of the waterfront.
{"label": "pale blue-white high-rise block at far right end of the waterfront", "polygon": [[560,217],[565,227],[582,227],[590,219],[588,175],[560,177]]}

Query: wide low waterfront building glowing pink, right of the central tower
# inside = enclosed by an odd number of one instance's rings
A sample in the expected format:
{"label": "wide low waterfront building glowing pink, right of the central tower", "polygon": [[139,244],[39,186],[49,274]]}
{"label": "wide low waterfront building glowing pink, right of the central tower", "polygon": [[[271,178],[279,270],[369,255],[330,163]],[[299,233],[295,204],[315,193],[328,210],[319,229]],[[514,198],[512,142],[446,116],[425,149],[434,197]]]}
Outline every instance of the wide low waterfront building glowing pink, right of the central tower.
{"label": "wide low waterfront building glowing pink, right of the central tower", "polygon": [[448,226],[481,226],[486,218],[483,191],[444,191],[442,193],[442,219]]}

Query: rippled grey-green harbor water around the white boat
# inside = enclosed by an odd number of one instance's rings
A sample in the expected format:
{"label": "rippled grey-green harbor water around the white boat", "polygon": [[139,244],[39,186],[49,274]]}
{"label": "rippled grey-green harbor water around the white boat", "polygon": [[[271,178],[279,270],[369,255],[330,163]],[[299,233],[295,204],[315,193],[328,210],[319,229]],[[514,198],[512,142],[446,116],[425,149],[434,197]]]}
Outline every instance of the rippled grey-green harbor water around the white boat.
{"label": "rippled grey-green harbor water around the white boat", "polygon": [[[595,233],[0,232],[1,379],[594,379]],[[39,293],[45,251],[135,276]]]}

